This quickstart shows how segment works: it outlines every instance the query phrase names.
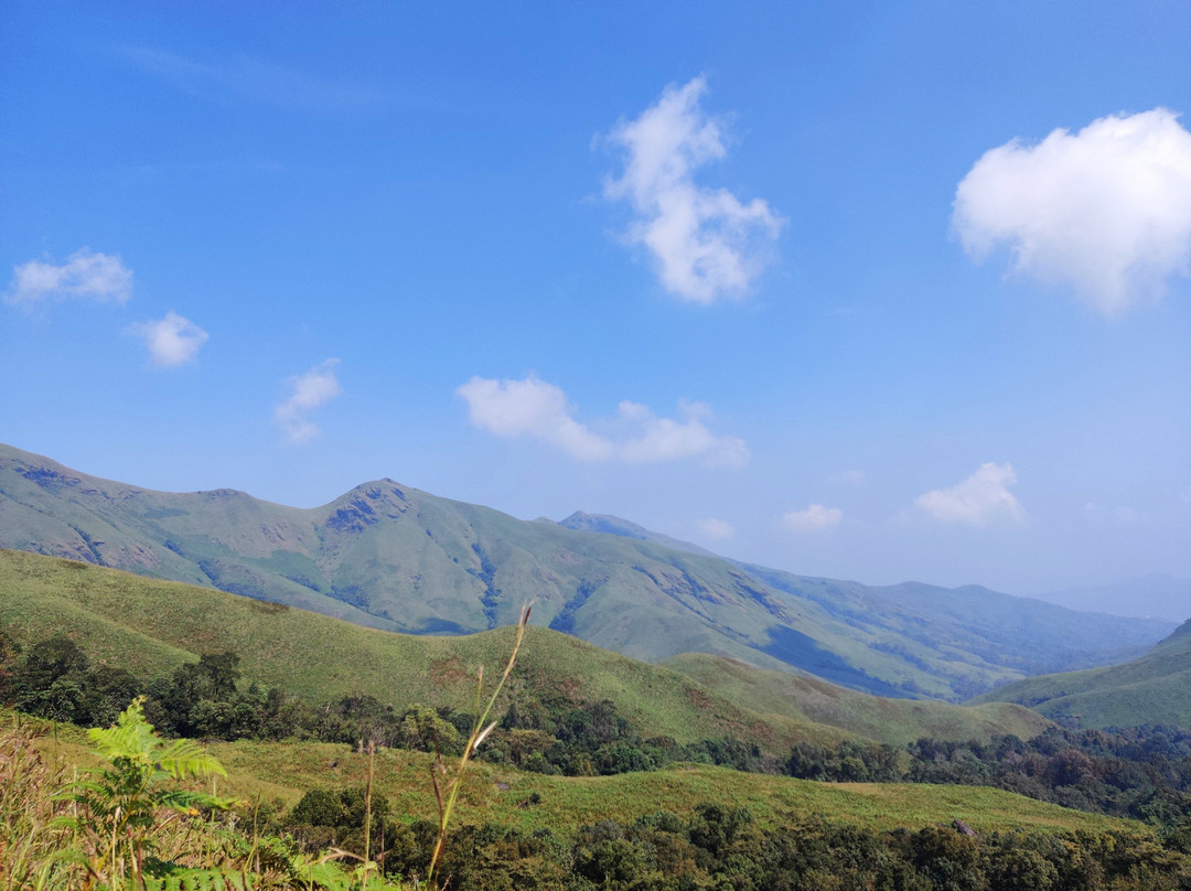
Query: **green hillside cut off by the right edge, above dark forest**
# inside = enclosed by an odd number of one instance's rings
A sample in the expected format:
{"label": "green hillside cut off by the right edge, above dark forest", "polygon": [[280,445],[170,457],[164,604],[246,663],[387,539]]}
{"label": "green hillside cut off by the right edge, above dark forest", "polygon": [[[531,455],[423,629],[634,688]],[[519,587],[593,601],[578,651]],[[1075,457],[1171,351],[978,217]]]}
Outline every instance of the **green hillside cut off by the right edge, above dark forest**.
{"label": "green hillside cut off by the right edge, above dark forest", "polygon": [[978,702],[1019,703],[1081,727],[1191,727],[1191,619],[1131,662],[1030,678]]}

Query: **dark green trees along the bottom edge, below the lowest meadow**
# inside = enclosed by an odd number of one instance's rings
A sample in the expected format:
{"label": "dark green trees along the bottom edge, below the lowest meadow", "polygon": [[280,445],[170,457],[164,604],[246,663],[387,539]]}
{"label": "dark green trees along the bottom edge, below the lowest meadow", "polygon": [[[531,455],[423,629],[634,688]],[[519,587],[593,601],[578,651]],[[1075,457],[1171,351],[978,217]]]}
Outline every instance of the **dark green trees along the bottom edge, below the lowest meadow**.
{"label": "dark green trees along the bottom edge, below the lowest meadow", "polygon": [[[372,824],[386,873],[425,876],[432,823],[400,823],[374,799]],[[363,790],[308,792],[283,825],[312,852],[351,849],[362,834]],[[573,839],[550,829],[462,825],[448,839],[439,874],[456,891],[1165,891],[1191,887],[1191,850],[1118,831],[981,837],[961,821],[918,831],[816,818],[762,828],[747,809],[701,804],[685,818],[601,821]]]}

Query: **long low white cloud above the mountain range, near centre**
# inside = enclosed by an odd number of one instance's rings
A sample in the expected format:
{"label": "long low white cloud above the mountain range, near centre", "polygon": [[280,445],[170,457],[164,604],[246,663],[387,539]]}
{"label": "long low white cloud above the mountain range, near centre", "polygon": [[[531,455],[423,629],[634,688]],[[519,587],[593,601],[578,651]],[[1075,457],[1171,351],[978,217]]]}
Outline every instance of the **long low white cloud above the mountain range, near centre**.
{"label": "long low white cloud above the mountain range, near centre", "polygon": [[473,424],[497,436],[530,436],[562,449],[580,461],[650,463],[698,457],[711,466],[741,467],[749,453],[743,440],[719,436],[704,420],[701,403],[680,401],[681,419],[656,417],[647,406],[621,403],[616,417],[601,430],[575,420],[574,407],[561,387],[530,375],[524,380],[472,378],[455,391],[468,405]]}

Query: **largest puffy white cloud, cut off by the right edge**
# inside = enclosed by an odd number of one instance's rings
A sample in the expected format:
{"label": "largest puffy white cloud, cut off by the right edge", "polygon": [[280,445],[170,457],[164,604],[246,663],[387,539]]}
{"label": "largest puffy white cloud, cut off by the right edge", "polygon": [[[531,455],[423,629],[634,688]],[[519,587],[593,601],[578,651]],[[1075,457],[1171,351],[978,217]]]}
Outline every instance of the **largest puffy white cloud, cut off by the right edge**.
{"label": "largest puffy white cloud, cut off by the right edge", "polygon": [[977,262],[1008,244],[1017,272],[1120,312],[1191,270],[1191,133],[1154,108],[1014,139],[960,182],[952,223]]}

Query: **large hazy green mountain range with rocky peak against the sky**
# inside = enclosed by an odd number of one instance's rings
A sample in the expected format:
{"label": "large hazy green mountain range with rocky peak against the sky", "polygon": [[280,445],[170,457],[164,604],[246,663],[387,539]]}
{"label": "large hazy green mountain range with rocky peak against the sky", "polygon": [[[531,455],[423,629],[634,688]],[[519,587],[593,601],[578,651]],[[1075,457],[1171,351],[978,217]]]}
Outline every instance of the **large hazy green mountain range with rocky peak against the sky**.
{"label": "large hazy green mountain range with rocky peak against the sky", "polygon": [[233,490],[154,492],[0,447],[0,547],[387,630],[491,629],[534,598],[535,622],[647,661],[709,653],[887,697],[960,699],[1122,661],[1173,628],[984,590],[805,578],[615,518],[568,519],[600,531],[519,521],[393,480],[308,510]]}

